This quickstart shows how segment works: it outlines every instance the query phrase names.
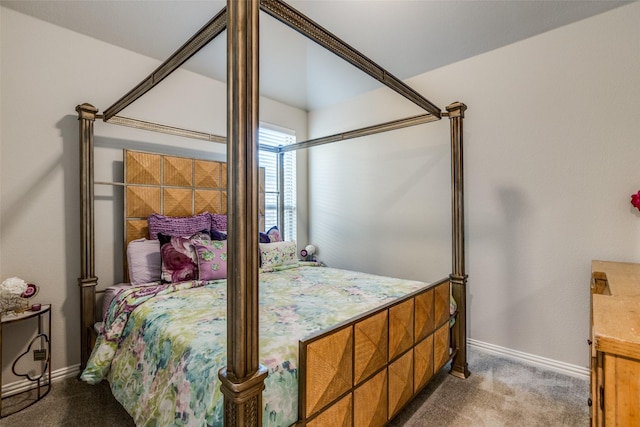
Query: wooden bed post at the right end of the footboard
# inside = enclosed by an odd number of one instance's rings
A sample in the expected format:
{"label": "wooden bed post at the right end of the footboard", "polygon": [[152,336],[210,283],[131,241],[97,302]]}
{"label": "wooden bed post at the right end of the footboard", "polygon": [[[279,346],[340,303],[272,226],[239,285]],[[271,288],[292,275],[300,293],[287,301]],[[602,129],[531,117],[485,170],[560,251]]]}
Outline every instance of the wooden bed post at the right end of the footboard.
{"label": "wooden bed post at the right end of the footboard", "polygon": [[462,119],[467,106],[454,102],[447,106],[451,123],[451,224],[452,224],[452,272],[453,298],[458,304],[458,316],[453,327],[454,350],[451,374],[460,378],[470,375],[467,364],[467,275],[465,273],[464,248],[464,174],[462,168]]}

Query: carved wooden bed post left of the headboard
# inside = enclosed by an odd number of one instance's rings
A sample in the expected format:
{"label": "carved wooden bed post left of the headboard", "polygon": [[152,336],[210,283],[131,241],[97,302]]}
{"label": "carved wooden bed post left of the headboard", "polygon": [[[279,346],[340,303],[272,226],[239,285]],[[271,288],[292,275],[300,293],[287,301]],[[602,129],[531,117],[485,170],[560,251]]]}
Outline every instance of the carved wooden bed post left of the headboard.
{"label": "carved wooden bed post left of the headboard", "polygon": [[76,107],[80,121],[80,370],[87,366],[93,345],[96,318],[95,240],[93,214],[93,123],[98,109],[91,104]]}

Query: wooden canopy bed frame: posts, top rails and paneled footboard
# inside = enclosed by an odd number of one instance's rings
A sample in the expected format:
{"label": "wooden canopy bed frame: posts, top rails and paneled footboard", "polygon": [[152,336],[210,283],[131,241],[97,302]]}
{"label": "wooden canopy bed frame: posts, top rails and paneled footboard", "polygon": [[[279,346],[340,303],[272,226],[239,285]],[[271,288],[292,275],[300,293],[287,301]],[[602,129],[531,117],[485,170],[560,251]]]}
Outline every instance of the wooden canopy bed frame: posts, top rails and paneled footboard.
{"label": "wooden canopy bed frame: posts, top rails and paneled footboard", "polygon": [[[462,173],[462,119],[466,106],[454,103],[441,112],[403,82],[279,0],[229,1],[174,55],[147,79],[124,95],[102,116],[90,104],[76,110],[80,122],[81,244],[79,278],[82,311],[81,366],[94,344],[96,319],[93,126],[106,123],[133,126],[180,136],[227,142],[226,366],[220,370],[226,425],[261,425],[262,391],[267,368],[258,352],[259,337],[259,172],[258,28],[260,10],[291,26],[360,70],[378,79],[426,114],[351,132],[318,138],[280,149],[296,150],[390,131],[448,116],[452,159],[452,273],[448,278],[385,300],[375,308],[349,315],[329,329],[300,338],[298,377],[299,425],[382,425],[391,419],[451,361],[451,373],[469,375],[466,354],[466,282]],[[177,69],[206,43],[227,30],[227,137],[142,122],[118,116],[159,81]],[[197,212],[194,212],[197,213]],[[372,279],[373,280],[373,279]],[[262,283],[262,282],[260,282]],[[200,285],[198,285],[200,286]],[[164,288],[163,291],[164,292]],[[449,294],[457,311],[449,312]],[[450,328],[451,318],[455,319]],[[371,336],[378,337],[371,340]],[[366,337],[367,339],[363,339]],[[327,369],[330,367],[330,369]],[[371,405],[383,396],[384,408]],[[372,407],[374,406],[374,407]]]}

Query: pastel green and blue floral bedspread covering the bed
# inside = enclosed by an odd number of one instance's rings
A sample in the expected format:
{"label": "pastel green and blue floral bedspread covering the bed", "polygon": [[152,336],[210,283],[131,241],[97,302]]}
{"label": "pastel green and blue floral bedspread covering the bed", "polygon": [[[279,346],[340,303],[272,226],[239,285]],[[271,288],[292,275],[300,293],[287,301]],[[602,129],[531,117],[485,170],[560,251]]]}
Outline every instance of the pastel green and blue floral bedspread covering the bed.
{"label": "pastel green and blue floral bedspread covering the bed", "polygon": [[[263,424],[297,420],[298,341],[425,286],[301,266],[260,274]],[[114,299],[81,378],[107,379],[138,426],[222,426],[226,281],[132,287]]]}

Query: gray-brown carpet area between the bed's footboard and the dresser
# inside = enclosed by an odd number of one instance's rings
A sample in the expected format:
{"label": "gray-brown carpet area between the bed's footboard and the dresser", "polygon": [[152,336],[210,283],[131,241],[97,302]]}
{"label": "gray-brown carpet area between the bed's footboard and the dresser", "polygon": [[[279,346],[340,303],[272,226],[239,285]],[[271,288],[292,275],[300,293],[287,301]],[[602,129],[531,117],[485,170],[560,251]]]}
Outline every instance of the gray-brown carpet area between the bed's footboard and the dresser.
{"label": "gray-brown carpet area between the bed's footboard and the dresser", "polygon": [[440,372],[392,427],[589,426],[589,380],[469,351],[471,376]]}

